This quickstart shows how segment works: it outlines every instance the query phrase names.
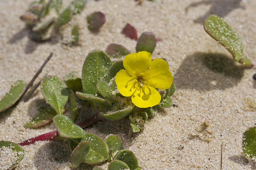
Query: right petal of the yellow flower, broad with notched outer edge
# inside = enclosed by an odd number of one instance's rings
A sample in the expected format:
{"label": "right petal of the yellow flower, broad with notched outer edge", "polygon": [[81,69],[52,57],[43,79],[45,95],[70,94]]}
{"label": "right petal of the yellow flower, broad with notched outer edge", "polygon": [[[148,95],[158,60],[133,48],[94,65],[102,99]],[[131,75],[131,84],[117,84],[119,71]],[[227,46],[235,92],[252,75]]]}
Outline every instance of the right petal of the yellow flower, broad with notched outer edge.
{"label": "right petal of the yellow flower, broad with notched outer edge", "polygon": [[172,74],[169,71],[169,66],[163,59],[155,59],[152,61],[149,69],[144,77],[143,82],[160,89],[168,89],[172,85]]}

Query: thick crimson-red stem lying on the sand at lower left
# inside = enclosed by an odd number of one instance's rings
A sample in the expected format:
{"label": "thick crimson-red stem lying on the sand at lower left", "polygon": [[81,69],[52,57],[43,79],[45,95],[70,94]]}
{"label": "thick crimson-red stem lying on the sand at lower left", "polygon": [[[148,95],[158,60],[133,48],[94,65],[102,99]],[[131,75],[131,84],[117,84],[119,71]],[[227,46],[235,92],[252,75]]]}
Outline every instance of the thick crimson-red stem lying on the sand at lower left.
{"label": "thick crimson-red stem lying on the sand at lower left", "polygon": [[23,142],[19,143],[21,146],[30,145],[37,141],[45,141],[45,140],[54,140],[57,136],[59,136],[59,133],[57,130],[30,138],[28,140],[24,140]]}

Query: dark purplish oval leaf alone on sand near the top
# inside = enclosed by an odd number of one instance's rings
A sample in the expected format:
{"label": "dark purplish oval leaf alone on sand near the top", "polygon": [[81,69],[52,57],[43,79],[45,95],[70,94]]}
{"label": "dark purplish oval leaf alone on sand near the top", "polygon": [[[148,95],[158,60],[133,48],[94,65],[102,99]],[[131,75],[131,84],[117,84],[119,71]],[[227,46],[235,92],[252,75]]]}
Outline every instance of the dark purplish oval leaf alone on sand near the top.
{"label": "dark purplish oval leaf alone on sand near the top", "polygon": [[94,12],[87,16],[88,29],[90,31],[98,31],[105,22],[105,15],[101,12]]}

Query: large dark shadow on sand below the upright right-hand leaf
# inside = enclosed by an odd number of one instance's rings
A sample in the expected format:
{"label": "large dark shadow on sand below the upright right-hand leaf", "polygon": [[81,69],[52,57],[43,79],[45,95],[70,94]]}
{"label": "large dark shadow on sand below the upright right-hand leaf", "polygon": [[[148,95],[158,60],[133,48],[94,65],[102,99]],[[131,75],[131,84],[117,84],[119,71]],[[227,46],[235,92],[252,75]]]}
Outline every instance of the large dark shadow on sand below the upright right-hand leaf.
{"label": "large dark shadow on sand below the upright right-hand leaf", "polygon": [[185,58],[173,77],[177,89],[210,91],[237,85],[248,66],[218,53],[194,53]]}

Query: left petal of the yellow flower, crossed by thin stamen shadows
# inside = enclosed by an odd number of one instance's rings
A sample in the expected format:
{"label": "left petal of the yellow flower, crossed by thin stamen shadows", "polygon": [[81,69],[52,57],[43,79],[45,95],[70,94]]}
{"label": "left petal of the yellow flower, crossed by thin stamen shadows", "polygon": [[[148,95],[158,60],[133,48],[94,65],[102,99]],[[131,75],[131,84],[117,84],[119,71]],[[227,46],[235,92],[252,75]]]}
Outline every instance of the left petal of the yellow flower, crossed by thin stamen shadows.
{"label": "left petal of the yellow flower, crossed by thin stamen shadows", "polygon": [[128,97],[132,95],[137,80],[133,78],[126,70],[122,69],[117,72],[115,82],[119,92],[123,96]]}

